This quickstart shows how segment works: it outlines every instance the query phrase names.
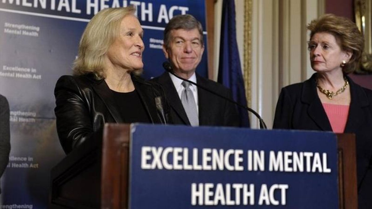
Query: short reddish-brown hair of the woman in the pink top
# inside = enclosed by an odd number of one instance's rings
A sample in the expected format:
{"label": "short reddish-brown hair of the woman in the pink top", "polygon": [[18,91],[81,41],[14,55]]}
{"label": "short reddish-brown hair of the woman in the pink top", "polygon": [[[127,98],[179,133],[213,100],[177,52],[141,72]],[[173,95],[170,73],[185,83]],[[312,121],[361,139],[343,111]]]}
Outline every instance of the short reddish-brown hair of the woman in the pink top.
{"label": "short reddish-brown hair of the woman in the pink top", "polygon": [[362,33],[351,20],[333,14],[325,14],[312,20],[307,25],[307,29],[310,30],[310,40],[315,33],[330,33],[336,38],[341,50],[353,53],[349,62],[342,68],[344,73],[352,73],[359,67],[364,39]]}

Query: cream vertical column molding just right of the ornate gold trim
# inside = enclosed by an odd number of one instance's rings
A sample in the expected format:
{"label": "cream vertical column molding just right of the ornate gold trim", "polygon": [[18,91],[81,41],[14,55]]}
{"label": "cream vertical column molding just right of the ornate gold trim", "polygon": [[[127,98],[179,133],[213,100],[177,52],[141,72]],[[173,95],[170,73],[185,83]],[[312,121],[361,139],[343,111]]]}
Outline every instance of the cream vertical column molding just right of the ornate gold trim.
{"label": "cream vertical column molding just right of the ornate gold trim", "polygon": [[[251,104],[272,127],[278,89],[278,1],[253,0]],[[259,127],[251,116],[252,128]]]}

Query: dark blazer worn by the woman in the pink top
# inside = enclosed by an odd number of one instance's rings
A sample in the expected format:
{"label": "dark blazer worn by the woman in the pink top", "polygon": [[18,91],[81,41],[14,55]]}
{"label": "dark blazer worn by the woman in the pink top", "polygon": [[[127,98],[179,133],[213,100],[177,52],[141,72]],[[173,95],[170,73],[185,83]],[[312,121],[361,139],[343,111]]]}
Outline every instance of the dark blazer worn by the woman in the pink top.
{"label": "dark blazer worn by the woman in the pink top", "polygon": [[[303,83],[284,87],[273,128],[332,131],[317,94],[316,73]],[[372,207],[372,91],[349,77],[351,103],[344,133],[355,133],[359,208]]]}

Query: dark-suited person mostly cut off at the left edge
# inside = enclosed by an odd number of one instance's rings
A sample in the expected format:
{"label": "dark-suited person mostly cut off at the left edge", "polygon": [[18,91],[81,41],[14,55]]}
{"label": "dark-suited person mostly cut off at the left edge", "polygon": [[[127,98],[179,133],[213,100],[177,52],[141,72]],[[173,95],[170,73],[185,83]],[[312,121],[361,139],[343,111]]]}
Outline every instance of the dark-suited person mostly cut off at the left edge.
{"label": "dark-suited person mostly cut off at the left edge", "polygon": [[[9,103],[0,94],[0,177],[9,161],[10,152]],[[0,187],[1,194],[1,187]]]}

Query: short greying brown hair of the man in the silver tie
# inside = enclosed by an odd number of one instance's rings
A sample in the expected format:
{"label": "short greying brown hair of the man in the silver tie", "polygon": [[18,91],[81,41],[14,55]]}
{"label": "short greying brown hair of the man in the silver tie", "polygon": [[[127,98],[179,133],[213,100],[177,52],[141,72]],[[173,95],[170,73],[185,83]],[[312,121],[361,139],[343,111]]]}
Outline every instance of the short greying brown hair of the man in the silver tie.
{"label": "short greying brown hair of the man in the silver tie", "polygon": [[169,48],[169,44],[171,41],[171,31],[184,29],[184,30],[193,30],[198,29],[200,34],[200,43],[203,46],[203,27],[202,23],[200,23],[194,16],[186,14],[186,15],[176,15],[172,19],[170,19],[169,23],[164,29],[164,46]]}

